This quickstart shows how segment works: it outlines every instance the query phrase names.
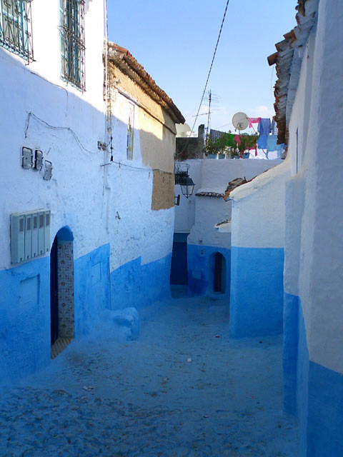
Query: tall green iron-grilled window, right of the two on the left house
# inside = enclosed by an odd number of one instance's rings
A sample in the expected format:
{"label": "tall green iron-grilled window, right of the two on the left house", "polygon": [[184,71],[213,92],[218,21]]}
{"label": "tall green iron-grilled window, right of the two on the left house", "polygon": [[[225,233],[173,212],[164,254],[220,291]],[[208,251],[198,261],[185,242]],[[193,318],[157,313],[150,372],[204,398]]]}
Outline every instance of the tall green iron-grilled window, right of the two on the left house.
{"label": "tall green iron-grilled window, right of the two on the left house", "polygon": [[85,90],[84,0],[60,0],[61,78]]}

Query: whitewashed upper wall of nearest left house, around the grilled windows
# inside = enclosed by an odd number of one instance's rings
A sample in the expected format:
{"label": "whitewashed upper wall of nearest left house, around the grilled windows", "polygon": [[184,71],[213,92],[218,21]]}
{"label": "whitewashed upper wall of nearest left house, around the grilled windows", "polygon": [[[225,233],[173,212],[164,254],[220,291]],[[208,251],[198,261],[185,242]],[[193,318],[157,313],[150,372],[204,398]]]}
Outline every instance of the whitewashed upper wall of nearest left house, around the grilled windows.
{"label": "whitewashed upper wall of nearest left house, around the grilled windows", "polygon": [[[2,151],[0,268],[9,268],[9,214],[51,209],[51,242],[61,226],[76,236],[75,257],[106,243],[101,221],[104,206],[103,153],[97,141],[106,139],[103,98],[104,4],[86,6],[86,92],[60,79],[59,2],[32,2],[34,61],[29,66],[0,48]],[[31,114],[30,114],[31,113]],[[53,178],[44,181],[39,171],[21,168],[21,147],[41,149],[53,164]],[[84,192],[80,182],[87,183]],[[71,192],[71,189],[73,191]],[[92,229],[85,229],[91,219]]]}

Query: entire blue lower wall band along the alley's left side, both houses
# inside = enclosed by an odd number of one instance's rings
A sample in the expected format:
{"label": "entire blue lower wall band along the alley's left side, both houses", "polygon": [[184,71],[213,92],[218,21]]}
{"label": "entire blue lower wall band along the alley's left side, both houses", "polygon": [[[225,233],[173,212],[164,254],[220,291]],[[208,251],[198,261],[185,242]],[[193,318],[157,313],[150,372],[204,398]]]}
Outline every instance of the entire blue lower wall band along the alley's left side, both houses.
{"label": "entire blue lower wall band along the alley's left side, both houses", "polygon": [[[104,308],[141,308],[170,296],[172,254],[141,258],[109,273],[105,244],[74,261],[75,336],[88,333]],[[50,257],[0,271],[0,383],[18,381],[50,361]]]}

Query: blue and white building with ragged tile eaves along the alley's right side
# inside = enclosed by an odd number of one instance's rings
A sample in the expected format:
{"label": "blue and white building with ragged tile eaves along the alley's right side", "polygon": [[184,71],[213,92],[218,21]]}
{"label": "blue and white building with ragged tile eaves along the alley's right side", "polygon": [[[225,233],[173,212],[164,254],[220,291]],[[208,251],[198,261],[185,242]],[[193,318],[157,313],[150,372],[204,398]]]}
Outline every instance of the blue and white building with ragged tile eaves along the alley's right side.
{"label": "blue and white building with ragged tile eaves along the alley's right side", "polygon": [[[298,1],[268,58],[287,158],[231,194],[230,330],[283,330],[284,408],[308,457],[343,455],[342,31],[340,1]],[[258,276],[239,281],[252,262]]]}

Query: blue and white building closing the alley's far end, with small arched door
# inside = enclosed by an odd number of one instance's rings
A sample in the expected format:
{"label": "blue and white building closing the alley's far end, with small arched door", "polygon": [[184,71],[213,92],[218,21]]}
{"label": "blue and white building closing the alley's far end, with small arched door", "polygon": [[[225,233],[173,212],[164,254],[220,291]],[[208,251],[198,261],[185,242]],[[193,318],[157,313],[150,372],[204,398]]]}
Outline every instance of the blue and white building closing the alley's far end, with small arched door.
{"label": "blue and white building closing the alley's far end, with small arched door", "polygon": [[[225,191],[229,181],[252,179],[282,160],[191,159],[186,163],[195,187],[193,195],[189,199],[181,197],[180,205],[175,207],[172,281],[187,283],[191,293],[226,297],[229,303],[235,233],[232,202],[224,201]],[[179,193],[176,185],[175,194]],[[226,224],[214,228],[224,221]],[[247,233],[245,243],[250,242],[250,236]],[[250,267],[241,273],[242,278],[244,274],[254,275]]]}

